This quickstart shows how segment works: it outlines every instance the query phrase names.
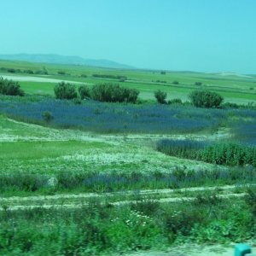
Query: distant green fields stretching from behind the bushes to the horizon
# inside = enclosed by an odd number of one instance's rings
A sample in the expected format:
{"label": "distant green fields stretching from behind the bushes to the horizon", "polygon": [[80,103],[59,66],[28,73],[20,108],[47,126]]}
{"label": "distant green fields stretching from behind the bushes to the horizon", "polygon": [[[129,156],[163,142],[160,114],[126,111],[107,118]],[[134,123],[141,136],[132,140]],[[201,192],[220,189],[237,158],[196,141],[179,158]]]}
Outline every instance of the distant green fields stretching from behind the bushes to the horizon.
{"label": "distant green fields stretching from behind the bushes to the horizon", "polygon": [[[2,72],[1,72],[2,68]],[[47,70],[48,75],[35,75],[27,73],[16,73],[22,76],[37,76],[40,82],[21,82],[21,88],[29,94],[53,95],[53,87],[56,83],[46,83],[44,79],[58,79],[80,82],[85,84],[98,84],[103,82],[119,83],[127,88],[139,88],[140,97],[143,99],[154,99],[154,90],[164,90],[168,99],[181,98],[188,100],[189,93],[195,89],[207,89],[220,93],[225,102],[247,103],[256,102],[256,78],[250,75],[239,75],[233,73],[191,73],[191,72],[168,72],[161,74],[160,71],[150,70],[119,70],[102,67],[83,67],[53,64],[26,63],[19,61],[0,61],[0,75],[12,75],[7,73],[8,68],[31,70],[36,73],[39,70]],[[59,72],[65,73],[58,74]],[[101,79],[93,75],[124,76],[125,82],[119,79]],[[82,78],[86,75],[86,78]],[[200,82],[201,85],[195,85]]]}

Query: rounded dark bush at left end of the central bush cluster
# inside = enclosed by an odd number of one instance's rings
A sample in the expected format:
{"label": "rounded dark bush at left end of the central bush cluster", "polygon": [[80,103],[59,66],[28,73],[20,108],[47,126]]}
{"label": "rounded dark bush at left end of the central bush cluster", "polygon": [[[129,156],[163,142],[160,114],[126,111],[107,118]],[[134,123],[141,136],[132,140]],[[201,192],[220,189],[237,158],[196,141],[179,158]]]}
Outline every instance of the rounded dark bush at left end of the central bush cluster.
{"label": "rounded dark bush at left end of the central bush cluster", "polygon": [[72,100],[78,96],[76,88],[73,84],[61,82],[55,85],[55,97],[57,99]]}

